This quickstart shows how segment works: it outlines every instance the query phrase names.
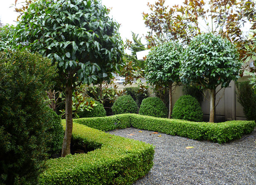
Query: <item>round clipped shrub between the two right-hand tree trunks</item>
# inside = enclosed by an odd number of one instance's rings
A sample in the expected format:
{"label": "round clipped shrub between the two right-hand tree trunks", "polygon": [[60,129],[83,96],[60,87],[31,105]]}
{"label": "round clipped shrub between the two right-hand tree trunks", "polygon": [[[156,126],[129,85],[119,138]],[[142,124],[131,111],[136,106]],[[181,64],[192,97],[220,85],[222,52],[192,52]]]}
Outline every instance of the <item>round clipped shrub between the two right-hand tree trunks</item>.
{"label": "round clipped shrub between the two right-hand tree trunks", "polygon": [[198,100],[190,95],[181,96],[172,109],[172,118],[189,121],[203,121],[203,112]]}

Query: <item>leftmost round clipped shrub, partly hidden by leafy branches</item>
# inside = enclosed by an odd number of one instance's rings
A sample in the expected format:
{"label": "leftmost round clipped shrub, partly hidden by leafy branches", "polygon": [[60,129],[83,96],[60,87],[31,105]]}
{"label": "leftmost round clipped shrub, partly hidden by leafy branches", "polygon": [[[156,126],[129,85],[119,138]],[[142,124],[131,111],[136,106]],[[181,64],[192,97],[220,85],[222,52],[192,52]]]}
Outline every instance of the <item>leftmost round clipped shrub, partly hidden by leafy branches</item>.
{"label": "leftmost round clipped shrub, partly hidden by leafy branches", "polygon": [[105,117],[106,116],[106,110],[102,103],[94,100],[93,98],[87,98],[87,101],[88,102],[94,101],[97,105],[95,107],[93,107],[93,109],[91,111],[84,110],[84,111],[78,112],[77,114],[80,118],[82,118],[82,117]]}

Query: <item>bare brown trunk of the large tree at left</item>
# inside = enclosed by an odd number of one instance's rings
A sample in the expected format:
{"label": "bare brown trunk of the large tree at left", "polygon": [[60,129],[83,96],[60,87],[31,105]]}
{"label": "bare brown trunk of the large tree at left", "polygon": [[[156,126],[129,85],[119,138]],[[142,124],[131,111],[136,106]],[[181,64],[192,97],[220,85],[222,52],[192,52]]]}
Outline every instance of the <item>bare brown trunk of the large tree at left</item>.
{"label": "bare brown trunk of the large tree at left", "polygon": [[61,157],[70,154],[70,142],[73,129],[72,119],[72,84],[66,84],[66,130],[63,139]]}

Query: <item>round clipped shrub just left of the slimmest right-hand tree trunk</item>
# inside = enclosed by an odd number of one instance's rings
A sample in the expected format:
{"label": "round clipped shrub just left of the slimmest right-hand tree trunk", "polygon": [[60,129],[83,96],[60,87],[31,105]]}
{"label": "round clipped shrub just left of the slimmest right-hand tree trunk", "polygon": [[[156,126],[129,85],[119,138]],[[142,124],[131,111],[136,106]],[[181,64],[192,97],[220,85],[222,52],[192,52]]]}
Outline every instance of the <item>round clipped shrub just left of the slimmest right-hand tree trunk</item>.
{"label": "round clipped shrub just left of the slimmest right-hand tree trunk", "polygon": [[139,114],[154,117],[167,117],[168,109],[160,98],[148,97],[142,100]]}

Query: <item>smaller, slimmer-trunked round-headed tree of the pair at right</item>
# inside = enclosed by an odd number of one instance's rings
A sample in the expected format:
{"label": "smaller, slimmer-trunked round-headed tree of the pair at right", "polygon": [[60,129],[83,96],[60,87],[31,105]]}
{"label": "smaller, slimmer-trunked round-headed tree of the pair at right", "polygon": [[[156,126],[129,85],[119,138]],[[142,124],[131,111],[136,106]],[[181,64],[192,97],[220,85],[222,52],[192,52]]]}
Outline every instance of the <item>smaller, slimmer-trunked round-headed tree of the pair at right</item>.
{"label": "smaller, slimmer-trunked round-headed tree of the pair at right", "polygon": [[145,78],[151,85],[169,88],[169,115],[172,114],[172,90],[179,82],[180,62],[183,47],[170,41],[151,49],[146,59]]}

